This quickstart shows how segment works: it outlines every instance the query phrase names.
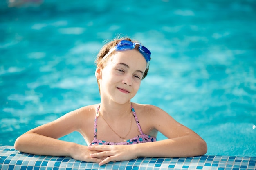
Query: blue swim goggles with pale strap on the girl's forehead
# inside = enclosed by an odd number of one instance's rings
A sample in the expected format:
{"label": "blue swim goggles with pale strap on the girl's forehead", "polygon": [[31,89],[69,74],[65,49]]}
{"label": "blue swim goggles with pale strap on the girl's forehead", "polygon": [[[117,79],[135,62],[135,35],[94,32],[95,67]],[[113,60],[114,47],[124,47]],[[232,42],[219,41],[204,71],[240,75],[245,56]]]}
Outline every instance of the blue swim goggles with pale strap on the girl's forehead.
{"label": "blue swim goggles with pale strap on the girl's forehead", "polygon": [[146,59],[147,61],[147,67],[149,66],[149,61],[151,59],[151,52],[150,50],[148,50],[148,48],[141,46],[141,44],[139,42],[131,42],[128,40],[121,40],[114,48],[111,48],[108,52],[108,54],[106,54],[103,58],[102,61],[104,59],[106,59],[113,51],[126,51],[126,50],[132,50],[135,48],[135,46],[139,44],[139,52],[143,55],[143,57]]}

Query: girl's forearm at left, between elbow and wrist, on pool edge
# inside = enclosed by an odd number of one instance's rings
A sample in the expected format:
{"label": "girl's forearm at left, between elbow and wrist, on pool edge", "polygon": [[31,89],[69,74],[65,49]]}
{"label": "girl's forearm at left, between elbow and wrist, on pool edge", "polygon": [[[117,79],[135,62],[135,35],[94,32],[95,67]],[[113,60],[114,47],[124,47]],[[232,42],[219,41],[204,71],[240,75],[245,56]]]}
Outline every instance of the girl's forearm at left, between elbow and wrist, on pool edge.
{"label": "girl's forearm at left, between elbow and wrist, on pool edge", "polygon": [[16,150],[36,155],[70,156],[76,144],[37,133],[25,133],[16,139]]}

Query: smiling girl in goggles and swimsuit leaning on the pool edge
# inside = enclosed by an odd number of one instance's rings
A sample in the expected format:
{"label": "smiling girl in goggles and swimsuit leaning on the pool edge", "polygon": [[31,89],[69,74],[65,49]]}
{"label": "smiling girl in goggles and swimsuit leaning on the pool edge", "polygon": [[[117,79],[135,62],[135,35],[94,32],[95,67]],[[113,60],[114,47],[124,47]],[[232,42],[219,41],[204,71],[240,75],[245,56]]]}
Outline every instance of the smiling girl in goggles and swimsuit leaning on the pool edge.
{"label": "smiling girl in goggles and swimsuit leaning on the pool edge", "polygon": [[[100,104],[71,111],[28,131],[16,139],[15,149],[99,165],[137,157],[204,155],[207,144],[191,129],[156,106],[130,102],[147,75],[150,56],[146,47],[129,38],[103,46],[95,71]],[[79,131],[88,146],[58,140],[73,131]],[[168,139],[156,141],[158,131]]]}

